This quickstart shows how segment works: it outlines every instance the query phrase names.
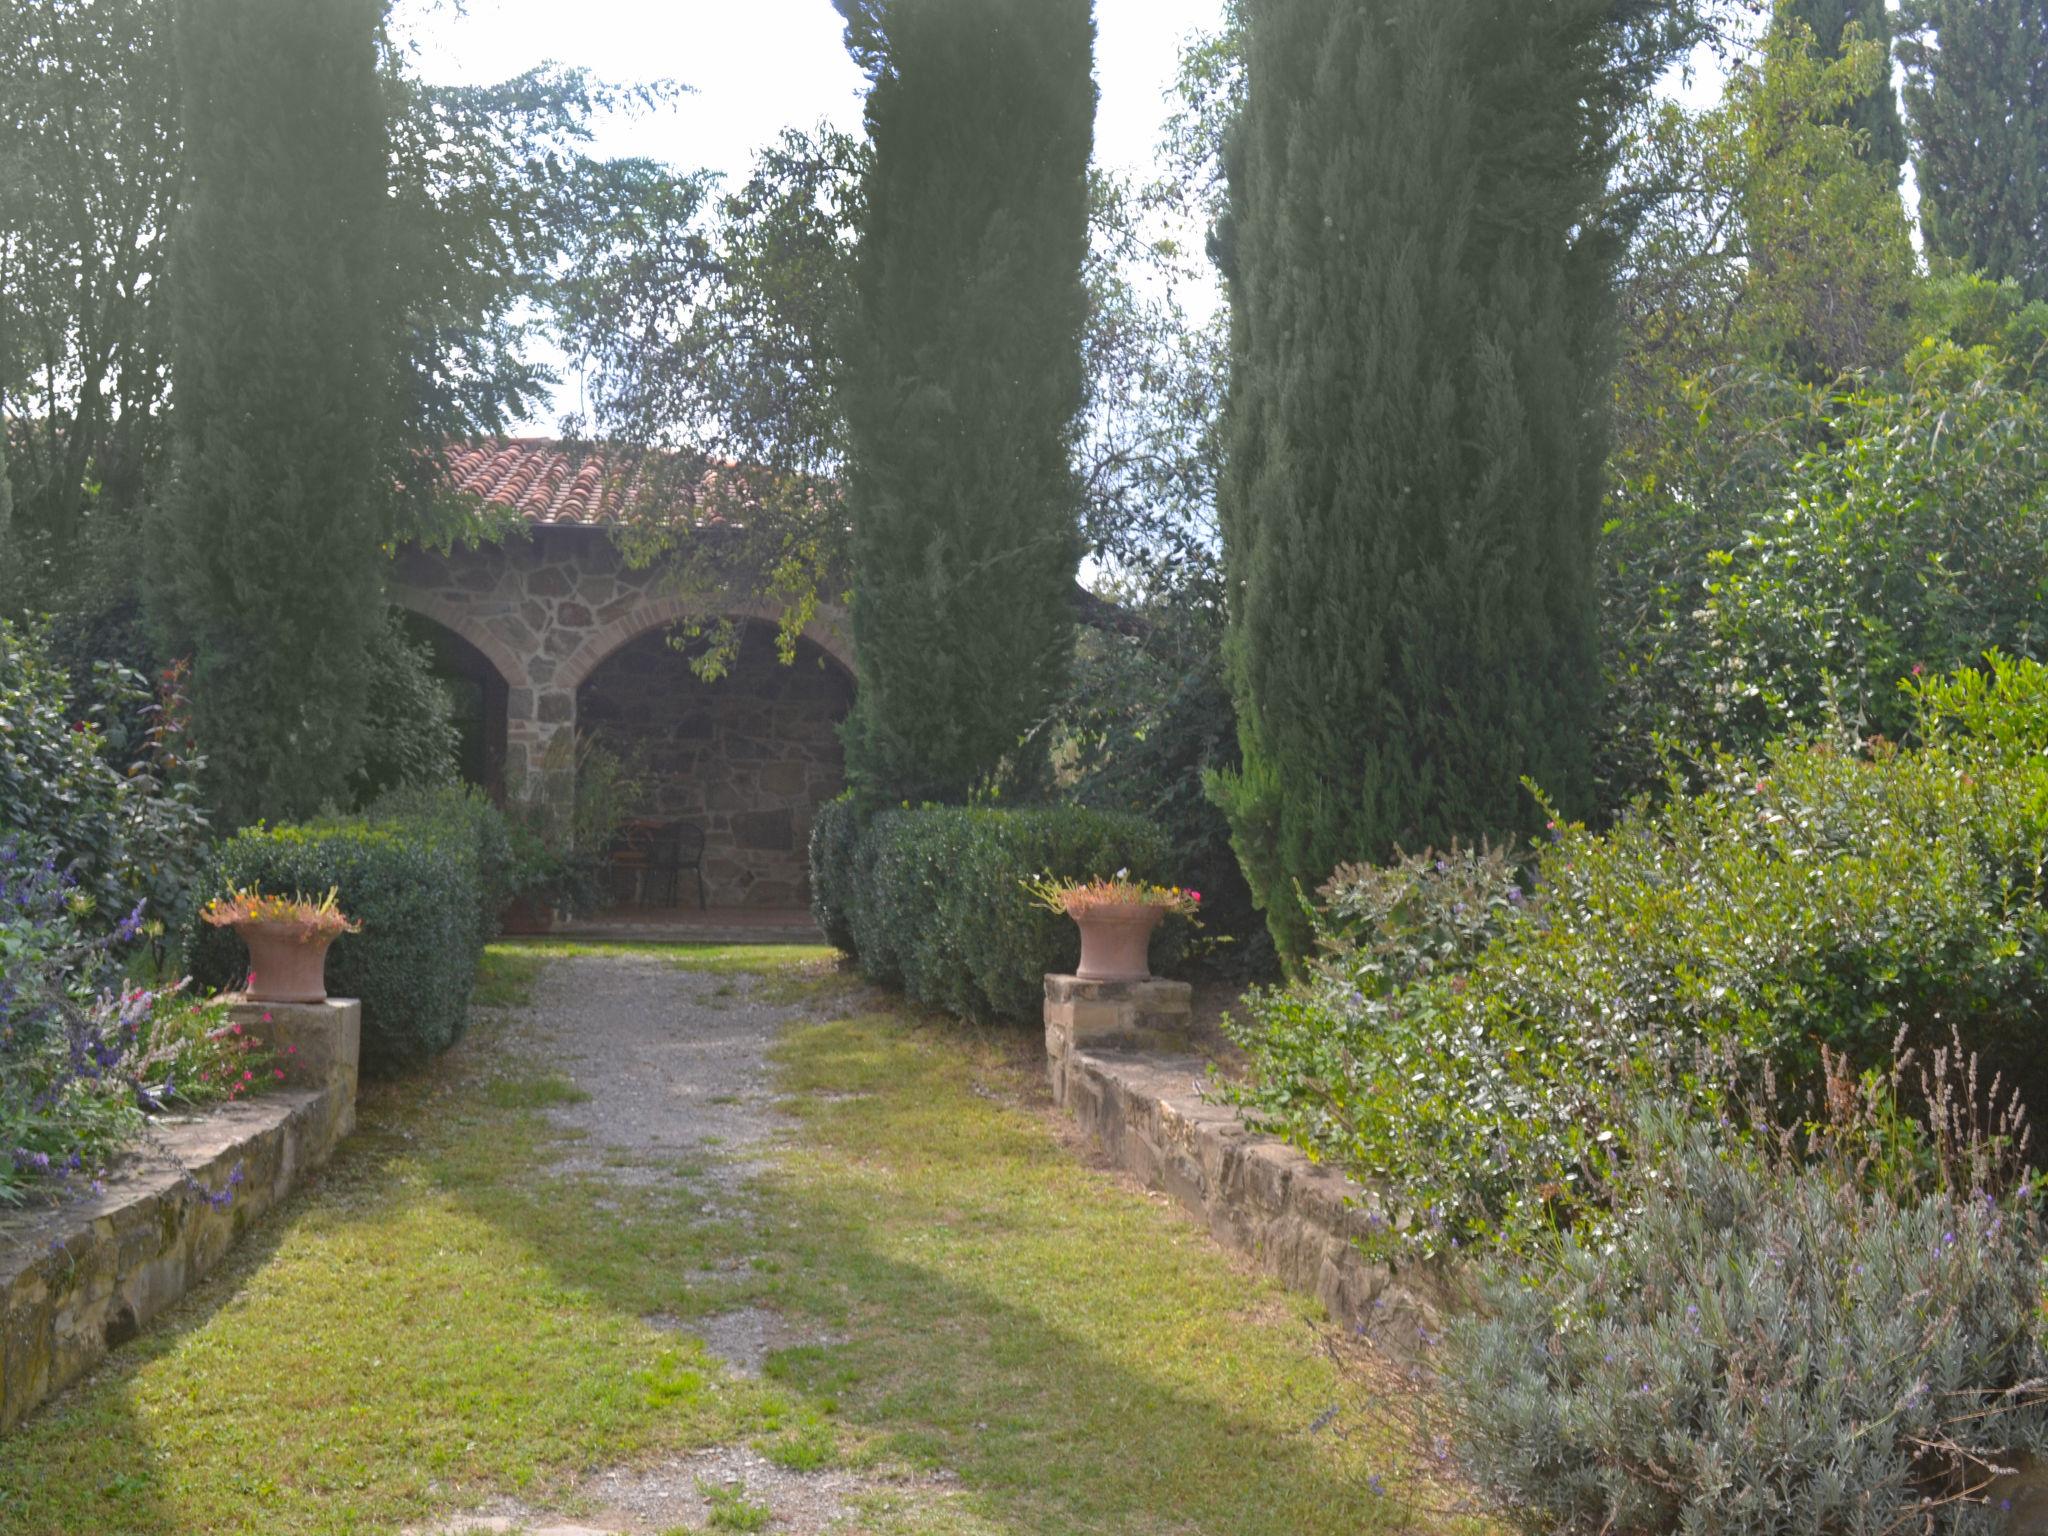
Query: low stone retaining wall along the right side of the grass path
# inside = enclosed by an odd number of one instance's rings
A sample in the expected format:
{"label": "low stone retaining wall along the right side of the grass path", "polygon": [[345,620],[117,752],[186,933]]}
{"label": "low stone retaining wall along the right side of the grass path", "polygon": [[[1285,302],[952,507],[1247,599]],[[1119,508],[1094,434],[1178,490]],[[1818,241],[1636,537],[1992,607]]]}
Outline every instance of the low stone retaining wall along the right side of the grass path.
{"label": "low stone retaining wall along the right side of the grass path", "polygon": [[1436,1333],[1450,1280],[1399,1272],[1358,1249],[1372,1190],[1245,1128],[1202,1098],[1208,1063],[1190,1049],[1194,989],[1180,981],[1044,979],[1053,1098],[1112,1163],[1174,1196],[1229,1249],[1257,1260],[1331,1319],[1411,1350]]}

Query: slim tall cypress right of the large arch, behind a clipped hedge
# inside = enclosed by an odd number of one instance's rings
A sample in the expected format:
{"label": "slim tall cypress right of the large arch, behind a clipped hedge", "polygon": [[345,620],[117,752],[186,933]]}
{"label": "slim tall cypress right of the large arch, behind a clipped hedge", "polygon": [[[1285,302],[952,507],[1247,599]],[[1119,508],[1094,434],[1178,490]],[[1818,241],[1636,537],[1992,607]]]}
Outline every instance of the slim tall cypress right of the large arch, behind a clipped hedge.
{"label": "slim tall cypress right of the large arch, behind a clipped hedge", "polygon": [[872,74],[848,344],[848,776],[958,801],[1073,647],[1092,0],[840,0]]}

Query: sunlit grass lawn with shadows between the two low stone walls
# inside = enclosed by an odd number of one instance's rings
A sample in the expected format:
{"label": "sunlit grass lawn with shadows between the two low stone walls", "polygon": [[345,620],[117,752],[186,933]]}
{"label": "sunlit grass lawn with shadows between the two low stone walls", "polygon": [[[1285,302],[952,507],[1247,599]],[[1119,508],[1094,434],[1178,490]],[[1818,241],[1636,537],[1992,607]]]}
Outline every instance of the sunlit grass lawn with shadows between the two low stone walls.
{"label": "sunlit grass lawn with shadows between the two low stone walls", "polygon": [[[485,995],[563,948],[496,948]],[[717,1444],[862,1468],[868,1532],[1411,1528],[1370,1489],[1393,1473],[1372,1384],[1065,1151],[1016,1034],[850,1014],[803,950],[664,954],[774,967],[817,1004],[776,1047],[795,1137],[752,1210],[553,1174],[545,1106],[580,1090],[479,1012],[434,1071],[367,1092],[219,1276],[0,1442],[0,1534],[391,1532],[506,1493],[573,1513],[580,1473]],[[750,1382],[643,1321],[739,1305],[831,1343]],[[942,1497],[897,1481],[938,1468]]]}

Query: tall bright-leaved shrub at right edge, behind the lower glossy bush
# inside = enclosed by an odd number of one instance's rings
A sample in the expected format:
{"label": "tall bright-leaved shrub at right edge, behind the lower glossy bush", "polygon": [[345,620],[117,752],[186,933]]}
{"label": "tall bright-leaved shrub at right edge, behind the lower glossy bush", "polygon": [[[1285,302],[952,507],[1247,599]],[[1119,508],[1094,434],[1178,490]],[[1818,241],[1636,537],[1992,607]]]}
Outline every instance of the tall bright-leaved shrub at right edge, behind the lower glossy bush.
{"label": "tall bright-leaved shrub at right edge, behind the lower glossy bush", "polygon": [[2048,391],[2009,373],[1995,350],[1929,344],[1901,387],[1831,395],[1812,446],[1688,475],[1610,528],[1614,799],[1661,780],[1659,739],[1749,754],[1833,705],[1903,737],[1915,668],[2044,653]]}

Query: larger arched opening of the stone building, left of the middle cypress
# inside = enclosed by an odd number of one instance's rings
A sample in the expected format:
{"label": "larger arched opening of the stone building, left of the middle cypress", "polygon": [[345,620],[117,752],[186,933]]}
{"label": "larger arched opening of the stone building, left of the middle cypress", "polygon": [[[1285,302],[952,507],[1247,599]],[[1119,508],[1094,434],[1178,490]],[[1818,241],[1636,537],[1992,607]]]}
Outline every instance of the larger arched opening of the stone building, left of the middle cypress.
{"label": "larger arched opening of the stone building, left of the middle cypress", "polygon": [[[784,666],[774,627],[748,621],[717,682],[690,670],[668,629],[627,641],[584,678],[575,719],[639,772],[647,819],[702,834],[707,907],[799,911],[811,817],[846,786],[852,702],[852,678],[819,645],[799,641]],[[674,895],[694,907],[694,877]]]}

